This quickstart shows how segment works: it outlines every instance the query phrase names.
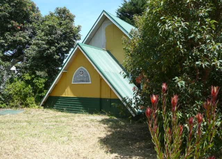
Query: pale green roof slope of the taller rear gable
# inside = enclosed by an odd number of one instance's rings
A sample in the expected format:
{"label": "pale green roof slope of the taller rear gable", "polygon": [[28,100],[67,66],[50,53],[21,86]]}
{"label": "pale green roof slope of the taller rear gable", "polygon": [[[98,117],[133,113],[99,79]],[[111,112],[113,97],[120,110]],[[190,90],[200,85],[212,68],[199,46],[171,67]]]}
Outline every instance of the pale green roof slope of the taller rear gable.
{"label": "pale green roof slope of the taller rear gable", "polygon": [[122,29],[124,29],[128,34],[130,33],[130,31],[132,29],[136,29],[134,26],[130,25],[129,23],[121,20],[120,18],[116,17],[115,15],[113,14],[110,14],[106,11],[103,11],[105,12],[112,20],[114,20]]}

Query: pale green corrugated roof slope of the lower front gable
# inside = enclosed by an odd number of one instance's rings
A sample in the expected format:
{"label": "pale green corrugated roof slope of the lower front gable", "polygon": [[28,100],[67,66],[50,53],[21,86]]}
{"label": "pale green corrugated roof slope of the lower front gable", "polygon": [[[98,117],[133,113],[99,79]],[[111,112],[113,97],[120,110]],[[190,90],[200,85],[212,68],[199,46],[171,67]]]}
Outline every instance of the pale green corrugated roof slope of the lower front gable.
{"label": "pale green corrugated roof slope of the lower front gable", "polygon": [[[108,51],[82,43],[78,45],[122,99],[133,99],[135,85],[123,77],[124,70]],[[137,112],[133,106],[131,109]]]}

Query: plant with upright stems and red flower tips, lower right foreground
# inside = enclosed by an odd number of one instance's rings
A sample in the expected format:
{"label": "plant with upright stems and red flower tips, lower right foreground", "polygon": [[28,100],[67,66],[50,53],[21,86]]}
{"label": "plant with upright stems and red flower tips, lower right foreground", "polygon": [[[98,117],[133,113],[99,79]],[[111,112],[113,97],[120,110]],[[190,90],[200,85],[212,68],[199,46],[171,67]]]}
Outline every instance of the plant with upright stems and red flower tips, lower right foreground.
{"label": "plant with upright stems and red flower tips, lower right foreground", "polygon": [[[198,113],[195,117],[189,118],[187,122],[188,131],[184,131],[184,124],[179,123],[179,118],[177,117],[178,95],[174,95],[171,98],[171,109],[169,109],[171,112],[167,112],[167,89],[166,83],[163,83],[161,95],[162,108],[158,107],[159,96],[152,95],[150,97],[152,106],[147,108],[145,112],[148,119],[149,131],[157,152],[157,158],[199,159],[206,157],[207,151],[212,147],[213,138],[216,133],[217,96],[220,88],[211,87],[211,99],[207,100],[203,105],[205,112]],[[159,124],[158,119],[161,119],[160,117],[162,117],[163,125]],[[203,125],[206,125],[206,128]],[[165,133],[161,134],[160,126],[163,127]],[[203,133],[203,129],[206,129],[205,133]],[[160,142],[161,135],[164,137],[163,146]],[[184,138],[185,136],[187,137]],[[186,147],[182,146],[183,141],[186,142]]]}

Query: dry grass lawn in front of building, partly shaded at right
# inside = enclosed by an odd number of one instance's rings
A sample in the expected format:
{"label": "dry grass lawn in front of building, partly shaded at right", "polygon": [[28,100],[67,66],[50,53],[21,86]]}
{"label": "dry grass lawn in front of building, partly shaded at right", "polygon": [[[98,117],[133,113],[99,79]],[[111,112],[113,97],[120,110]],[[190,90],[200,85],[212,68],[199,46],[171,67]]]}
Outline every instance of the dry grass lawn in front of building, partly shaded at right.
{"label": "dry grass lawn in front of building, partly shaded at right", "polygon": [[146,124],[26,109],[0,116],[1,159],[155,158]]}

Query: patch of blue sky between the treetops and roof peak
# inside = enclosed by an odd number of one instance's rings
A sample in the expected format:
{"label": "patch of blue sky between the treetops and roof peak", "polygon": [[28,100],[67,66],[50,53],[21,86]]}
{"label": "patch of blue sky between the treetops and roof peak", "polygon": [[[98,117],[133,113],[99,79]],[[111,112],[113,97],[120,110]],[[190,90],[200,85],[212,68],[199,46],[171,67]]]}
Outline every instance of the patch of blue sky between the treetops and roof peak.
{"label": "patch of blue sky between the treetops and roof peak", "polygon": [[103,10],[116,15],[123,0],[32,0],[42,15],[53,12],[56,7],[67,7],[75,17],[75,25],[81,25],[81,40],[93,26]]}

